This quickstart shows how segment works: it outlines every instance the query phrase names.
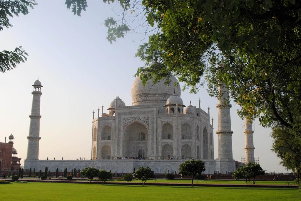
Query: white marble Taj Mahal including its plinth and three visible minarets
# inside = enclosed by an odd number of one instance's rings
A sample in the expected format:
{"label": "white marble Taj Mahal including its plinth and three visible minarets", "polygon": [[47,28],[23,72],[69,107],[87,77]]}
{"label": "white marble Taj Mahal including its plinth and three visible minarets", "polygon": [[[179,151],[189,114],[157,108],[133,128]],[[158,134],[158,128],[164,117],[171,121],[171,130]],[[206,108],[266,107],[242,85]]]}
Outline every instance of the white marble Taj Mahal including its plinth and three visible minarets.
{"label": "white marble Taj Mahal including its plinth and three visible minarets", "polygon": [[[170,85],[164,80],[143,86],[139,77],[132,84],[132,104],[126,105],[117,96],[104,106],[95,117],[93,111],[91,135],[92,160],[39,160],[40,102],[42,84],[33,84],[33,102],[27,157],[24,169],[35,168],[55,172],[56,168],[83,169],[95,167],[117,173],[131,173],[140,166],[149,166],[155,173],[178,172],[179,165],[191,158],[205,162],[205,174],[235,171],[232,156],[232,134],[227,88],[219,88],[217,100],[218,125],[214,133],[210,109],[184,105],[177,79],[172,76]],[[252,122],[245,126],[246,161],[254,162]],[[214,134],[218,137],[218,156],[214,156]]]}

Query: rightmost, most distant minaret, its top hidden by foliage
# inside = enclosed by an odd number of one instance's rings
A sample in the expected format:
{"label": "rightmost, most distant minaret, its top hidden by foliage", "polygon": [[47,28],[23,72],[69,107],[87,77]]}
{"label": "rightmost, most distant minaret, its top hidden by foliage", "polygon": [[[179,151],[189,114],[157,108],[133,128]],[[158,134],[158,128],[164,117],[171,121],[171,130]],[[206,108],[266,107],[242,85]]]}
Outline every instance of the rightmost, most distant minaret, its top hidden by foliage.
{"label": "rightmost, most distant minaret, its top hidden by foliage", "polygon": [[253,128],[252,128],[252,121],[245,118],[245,138],[246,138],[246,163],[254,163],[254,143],[253,143]]}

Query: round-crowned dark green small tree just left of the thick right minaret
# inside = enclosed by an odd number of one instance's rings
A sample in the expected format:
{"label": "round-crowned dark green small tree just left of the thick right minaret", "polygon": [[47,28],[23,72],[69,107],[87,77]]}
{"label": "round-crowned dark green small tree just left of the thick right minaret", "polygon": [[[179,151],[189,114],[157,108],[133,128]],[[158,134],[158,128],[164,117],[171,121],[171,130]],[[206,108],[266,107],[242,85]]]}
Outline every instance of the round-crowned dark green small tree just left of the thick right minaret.
{"label": "round-crowned dark green small tree just left of the thick right minaret", "polygon": [[179,166],[179,174],[182,177],[191,177],[191,187],[193,187],[193,180],[197,174],[202,174],[205,171],[205,163],[201,160],[188,160],[181,163]]}

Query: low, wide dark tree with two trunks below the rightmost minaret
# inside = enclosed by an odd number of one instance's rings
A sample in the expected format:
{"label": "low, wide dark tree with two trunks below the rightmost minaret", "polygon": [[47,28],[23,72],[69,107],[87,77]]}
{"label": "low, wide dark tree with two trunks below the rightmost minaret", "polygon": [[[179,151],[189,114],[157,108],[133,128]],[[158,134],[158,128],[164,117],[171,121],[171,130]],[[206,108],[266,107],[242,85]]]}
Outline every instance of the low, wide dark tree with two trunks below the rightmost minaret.
{"label": "low, wide dark tree with two trunks below the rightmost minaret", "polygon": [[255,177],[259,175],[264,175],[265,172],[262,170],[260,165],[258,163],[248,163],[246,166],[241,167],[240,169],[237,169],[232,173],[232,177],[234,179],[245,179],[245,188],[247,186],[247,180],[252,179],[253,184],[255,184]]}

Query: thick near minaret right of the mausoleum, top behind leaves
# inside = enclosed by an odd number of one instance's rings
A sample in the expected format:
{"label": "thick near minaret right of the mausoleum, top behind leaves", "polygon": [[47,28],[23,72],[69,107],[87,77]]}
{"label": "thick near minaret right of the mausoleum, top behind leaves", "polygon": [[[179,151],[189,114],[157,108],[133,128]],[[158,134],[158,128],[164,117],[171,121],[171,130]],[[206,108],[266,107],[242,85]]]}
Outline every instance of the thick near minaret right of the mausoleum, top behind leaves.
{"label": "thick near minaret right of the mausoleum, top behind leaves", "polygon": [[218,109],[218,159],[233,159],[232,134],[229,91],[224,85],[219,86],[220,100],[216,105]]}

